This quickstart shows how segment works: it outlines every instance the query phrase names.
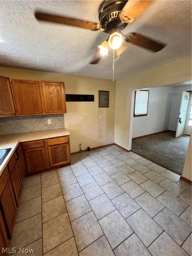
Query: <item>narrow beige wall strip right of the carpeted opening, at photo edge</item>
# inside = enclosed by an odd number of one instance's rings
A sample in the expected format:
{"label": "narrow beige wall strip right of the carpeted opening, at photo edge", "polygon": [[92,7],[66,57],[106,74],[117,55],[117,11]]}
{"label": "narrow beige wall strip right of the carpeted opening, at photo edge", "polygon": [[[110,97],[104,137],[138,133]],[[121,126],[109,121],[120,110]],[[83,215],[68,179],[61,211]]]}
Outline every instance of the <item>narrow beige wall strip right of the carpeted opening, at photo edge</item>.
{"label": "narrow beige wall strip right of the carpeted opening, at photo edge", "polygon": [[191,137],[192,137],[192,133],[189,140],[189,146],[188,146],[185,165],[184,165],[183,174],[182,174],[182,176],[188,180],[192,180],[192,159],[191,159],[192,158],[192,150],[191,150],[192,139]]}

